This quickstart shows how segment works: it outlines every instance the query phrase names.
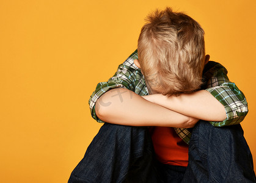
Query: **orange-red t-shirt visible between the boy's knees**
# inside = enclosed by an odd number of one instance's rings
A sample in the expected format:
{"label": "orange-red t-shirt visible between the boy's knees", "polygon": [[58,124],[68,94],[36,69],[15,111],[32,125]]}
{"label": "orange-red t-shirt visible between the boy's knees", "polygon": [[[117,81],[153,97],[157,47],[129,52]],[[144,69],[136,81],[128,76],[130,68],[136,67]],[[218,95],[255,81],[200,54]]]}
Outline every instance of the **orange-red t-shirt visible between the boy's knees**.
{"label": "orange-red t-shirt visible between the boy's knees", "polygon": [[152,141],[159,162],[188,166],[188,145],[177,135],[173,127],[153,127]]}

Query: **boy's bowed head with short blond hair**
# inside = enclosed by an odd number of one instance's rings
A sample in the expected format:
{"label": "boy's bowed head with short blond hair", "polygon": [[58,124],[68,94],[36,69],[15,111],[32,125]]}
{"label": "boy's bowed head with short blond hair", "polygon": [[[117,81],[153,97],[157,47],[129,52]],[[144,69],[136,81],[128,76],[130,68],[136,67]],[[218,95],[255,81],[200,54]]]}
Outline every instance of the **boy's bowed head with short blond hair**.
{"label": "boy's bowed head with short blond hair", "polygon": [[205,65],[203,35],[199,23],[170,8],[147,16],[137,51],[148,87],[169,96],[198,90]]}

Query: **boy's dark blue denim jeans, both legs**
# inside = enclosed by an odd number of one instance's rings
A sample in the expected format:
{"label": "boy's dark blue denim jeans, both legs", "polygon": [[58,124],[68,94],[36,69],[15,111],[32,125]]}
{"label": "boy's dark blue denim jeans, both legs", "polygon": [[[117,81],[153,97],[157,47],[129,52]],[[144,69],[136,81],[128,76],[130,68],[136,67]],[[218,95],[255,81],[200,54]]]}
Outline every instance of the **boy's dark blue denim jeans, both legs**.
{"label": "boy's dark blue denim jeans, both legs", "polygon": [[148,127],[104,123],[71,182],[256,182],[251,151],[240,124],[213,127],[199,121],[192,131],[187,168],[155,160]]}

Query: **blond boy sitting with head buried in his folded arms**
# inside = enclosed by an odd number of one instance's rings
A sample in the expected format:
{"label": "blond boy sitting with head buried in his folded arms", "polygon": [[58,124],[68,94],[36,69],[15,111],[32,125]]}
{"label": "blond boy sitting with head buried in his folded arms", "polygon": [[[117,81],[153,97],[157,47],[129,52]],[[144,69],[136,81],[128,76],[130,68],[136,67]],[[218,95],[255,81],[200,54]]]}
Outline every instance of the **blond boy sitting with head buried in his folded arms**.
{"label": "blond boy sitting with head buried in his folded arms", "polygon": [[137,51],[90,98],[92,117],[108,123],[69,182],[255,182],[239,124],[246,99],[208,62],[203,34],[169,8],[148,16]]}

